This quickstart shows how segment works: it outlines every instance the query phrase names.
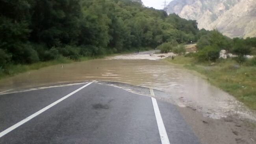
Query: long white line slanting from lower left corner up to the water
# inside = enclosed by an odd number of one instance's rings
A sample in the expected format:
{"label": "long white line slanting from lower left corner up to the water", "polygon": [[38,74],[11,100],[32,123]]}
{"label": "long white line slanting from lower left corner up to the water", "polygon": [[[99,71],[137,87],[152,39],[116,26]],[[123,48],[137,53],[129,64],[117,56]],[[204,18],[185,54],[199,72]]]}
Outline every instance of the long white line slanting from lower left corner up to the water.
{"label": "long white line slanting from lower left corner up to the water", "polygon": [[31,119],[33,119],[33,118],[36,117],[37,115],[39,115],[39,114],[45,112],[46,110],[48,110],[48,109],[51,108],[52,106],[54,106],[54,105],[60,103],[61,101],[67,99],[68,97],[70,97],[71,95],[75,94],[76,92],[82,90],[82,89],[85,88],[86,86],[91,85],[93,82],[94,82],[94,81],[92,81],[92,82],[90,82],[90,83],[87,83],[86,85],[84,85],[84,86],[78,88],[77,90],[71,92],[70,94],[68,94],[68,95],[62,97],[61,99],[55,101],[54,103],[52,103],[52,104],[46,106],[45,108],[39,110],[38,112],[35,112],[34,114],[30,115],[30,116],[27,117],[26,119],[23,119],[22,121],[18,122],[17,124],[14,124],[13,126],[11,126],[11,127],[7,128],[6,130],[2,131],[2,132],[0,133],[0,138],[3,137],[4,135],[6,135],[7,133],[11,132],[11,131],[14,130],[15,128],[18,128],[19,126],[21,126],[21,125],[24,124],[25,122],[30,121]]}

